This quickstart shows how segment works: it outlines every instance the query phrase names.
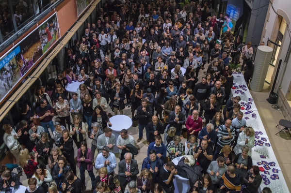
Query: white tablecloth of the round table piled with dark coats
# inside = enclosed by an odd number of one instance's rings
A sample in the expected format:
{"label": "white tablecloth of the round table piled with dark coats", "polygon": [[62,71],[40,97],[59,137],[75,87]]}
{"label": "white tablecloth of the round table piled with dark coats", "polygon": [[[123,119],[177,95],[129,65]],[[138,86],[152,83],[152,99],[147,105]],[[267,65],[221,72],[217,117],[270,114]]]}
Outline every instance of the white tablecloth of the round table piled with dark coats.
{"label": "white tablecloth of the round table piled with dark coats", "polygon": [[[172,160],[172,162],[177,165],[182,157],[183,156],[175,158]],[[179,175],[176,175],[174,179],[174,187],[175,193],[187,193],[190,190],[190,180],[188,178],[183,178]]]}

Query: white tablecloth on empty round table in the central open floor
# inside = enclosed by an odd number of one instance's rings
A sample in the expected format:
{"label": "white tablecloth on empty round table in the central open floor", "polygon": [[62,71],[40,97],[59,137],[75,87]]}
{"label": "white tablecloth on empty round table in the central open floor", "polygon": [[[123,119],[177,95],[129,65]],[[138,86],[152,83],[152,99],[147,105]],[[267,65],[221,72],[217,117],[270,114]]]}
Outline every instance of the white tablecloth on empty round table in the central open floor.
{"label": "white tablecloth on empty round table in the central open floor", "polygon": [[[112,126],[110,127],[112,129],[112,133],[115,135],[116,143],[117,143],[117,138],[120,135],[120,131],[122,129],[128,130],[131,125],[132,125],[132,120],[126,116],[126,115],[115,115],[109,119],[111,122]],[[115,146],[113,148],[114,153],[118,153],[119,149]]]}

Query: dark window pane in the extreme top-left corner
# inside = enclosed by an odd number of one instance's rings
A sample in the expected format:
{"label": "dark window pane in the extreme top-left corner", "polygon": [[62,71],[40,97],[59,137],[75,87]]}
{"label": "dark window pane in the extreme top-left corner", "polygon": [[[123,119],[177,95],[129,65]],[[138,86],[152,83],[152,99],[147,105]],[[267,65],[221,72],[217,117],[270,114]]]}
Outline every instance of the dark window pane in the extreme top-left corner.
{"label": "dark window pane in the extreme top-left corner", "polygon": [[15,33],[11,9],[7,0],[0,0],[0,31],[3,41]]}

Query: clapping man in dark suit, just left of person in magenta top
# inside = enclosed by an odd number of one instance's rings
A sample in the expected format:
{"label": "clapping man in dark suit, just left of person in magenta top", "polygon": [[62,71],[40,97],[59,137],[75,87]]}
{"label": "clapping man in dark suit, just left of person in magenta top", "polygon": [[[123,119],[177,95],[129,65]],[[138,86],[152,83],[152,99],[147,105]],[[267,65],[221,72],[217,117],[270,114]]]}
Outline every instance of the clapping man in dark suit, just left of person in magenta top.
{"label": "clapping man in dark suit, just left of person in magenta top", "polygon": [[180,111],[181,111],[181,107],[177,105],[174,111],[171,111],[169,114],[170,127],[176,128],[175,135],[178,135],[178,136],[180,136],[181,134],[182,125],[185,124],[185,115]]}

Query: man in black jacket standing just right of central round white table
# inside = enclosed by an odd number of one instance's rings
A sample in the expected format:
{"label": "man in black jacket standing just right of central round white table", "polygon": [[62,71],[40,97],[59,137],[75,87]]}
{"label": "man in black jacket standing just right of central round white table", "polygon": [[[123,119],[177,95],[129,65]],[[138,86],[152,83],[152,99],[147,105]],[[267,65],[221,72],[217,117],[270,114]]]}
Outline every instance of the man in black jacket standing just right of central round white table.
{"label": "man in black jacket standing just right of central round white table", "polygon": [[[147,105],[147,99],[142,99],[142,105],[137,107],[136,111],[136,117],[138,119],[138,140],[137,143],[139,143],[143,138],[143,131],[144,128],[146,128],[147,131],[147,124],[150,121],[150,118],[152,116],[152,109],[149,105]],[[148,135],[148,134],[146,134]],[[146,139],[148,139],[148,136],[146,136]]]}

